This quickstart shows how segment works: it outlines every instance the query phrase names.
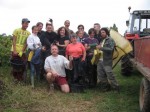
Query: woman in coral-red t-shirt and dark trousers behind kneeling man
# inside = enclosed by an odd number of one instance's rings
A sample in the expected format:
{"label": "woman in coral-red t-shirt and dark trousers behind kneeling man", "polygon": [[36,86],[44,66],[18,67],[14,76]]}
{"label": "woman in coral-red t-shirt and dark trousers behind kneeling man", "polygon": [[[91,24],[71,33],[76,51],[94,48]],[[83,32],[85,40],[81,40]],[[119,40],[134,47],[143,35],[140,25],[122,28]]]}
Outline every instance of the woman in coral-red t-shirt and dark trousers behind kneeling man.
{"label": "woman in coral-red t-shirt and dark trousers behind kneeling man", "polygon": [[72,83],[83,82],[84,78],[84,62],[86,57],[86,50],[82,43],[77,42],[76,34],[70,36],[71,43],[66,48],[66,57],[73,57],[73,75],[71,77]]}

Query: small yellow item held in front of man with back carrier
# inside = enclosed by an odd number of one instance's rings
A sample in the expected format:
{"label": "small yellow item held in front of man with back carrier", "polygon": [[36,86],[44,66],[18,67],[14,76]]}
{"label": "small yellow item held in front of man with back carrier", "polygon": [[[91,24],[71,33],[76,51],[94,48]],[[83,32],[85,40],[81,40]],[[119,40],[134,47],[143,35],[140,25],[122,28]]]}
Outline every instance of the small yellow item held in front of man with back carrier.
{"label": "small yellow item held in front of man with back carrier", "polygon": [[94,64],[97,65],[100,57],[101,57],[101,51],[99,49],[95,49],[94,50],[94,55],[93,55],[93,57],[91,59],[92,65],[94,65]]}

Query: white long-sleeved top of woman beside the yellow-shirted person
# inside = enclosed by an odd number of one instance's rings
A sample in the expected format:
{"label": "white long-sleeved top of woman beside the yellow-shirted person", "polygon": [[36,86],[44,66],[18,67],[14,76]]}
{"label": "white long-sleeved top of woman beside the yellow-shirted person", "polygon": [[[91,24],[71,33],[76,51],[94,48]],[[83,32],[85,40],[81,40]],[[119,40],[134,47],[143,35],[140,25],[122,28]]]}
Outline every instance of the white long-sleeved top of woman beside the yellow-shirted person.
{"label": "white long-sleeved top of woman beside the yellow-shirted person", "polygon": [[37,49],[40,47],[38,44],[41,44],[39,37],[33,33],[29,35],[27,38],[28,48],[31,50]]}

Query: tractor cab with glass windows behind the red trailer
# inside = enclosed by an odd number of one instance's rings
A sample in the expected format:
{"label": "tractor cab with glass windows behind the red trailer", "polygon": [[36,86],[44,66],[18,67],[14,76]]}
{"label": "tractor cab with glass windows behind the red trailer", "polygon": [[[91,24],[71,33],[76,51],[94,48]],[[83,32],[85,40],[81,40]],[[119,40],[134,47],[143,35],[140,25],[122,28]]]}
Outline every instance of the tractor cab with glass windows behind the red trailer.
{"label": "tractor cab with glass windows behind the red trailer", "polygon": [[128,40],[150,36],[150,10],[133,11],[126,25],[125,37]]}

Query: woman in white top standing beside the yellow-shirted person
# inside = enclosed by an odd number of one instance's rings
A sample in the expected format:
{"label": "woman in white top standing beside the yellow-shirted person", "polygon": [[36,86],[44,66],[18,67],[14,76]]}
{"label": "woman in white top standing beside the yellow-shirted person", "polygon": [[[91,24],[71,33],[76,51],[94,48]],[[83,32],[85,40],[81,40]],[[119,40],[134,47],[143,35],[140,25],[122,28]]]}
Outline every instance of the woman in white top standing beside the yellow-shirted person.
{"label": "woman in white top standing beside the yellow-shirted person", "polygon": [[[36,73],[38,81],[40,80],[40,53],[41,42],[37,36],[38,27],[32,27],[32,34],[27,38],[27,45],[30,50],[28,61],[30,62],[31,85],[34,88],[34,75]],[[34,55],[33,55],[34,54]]]}

